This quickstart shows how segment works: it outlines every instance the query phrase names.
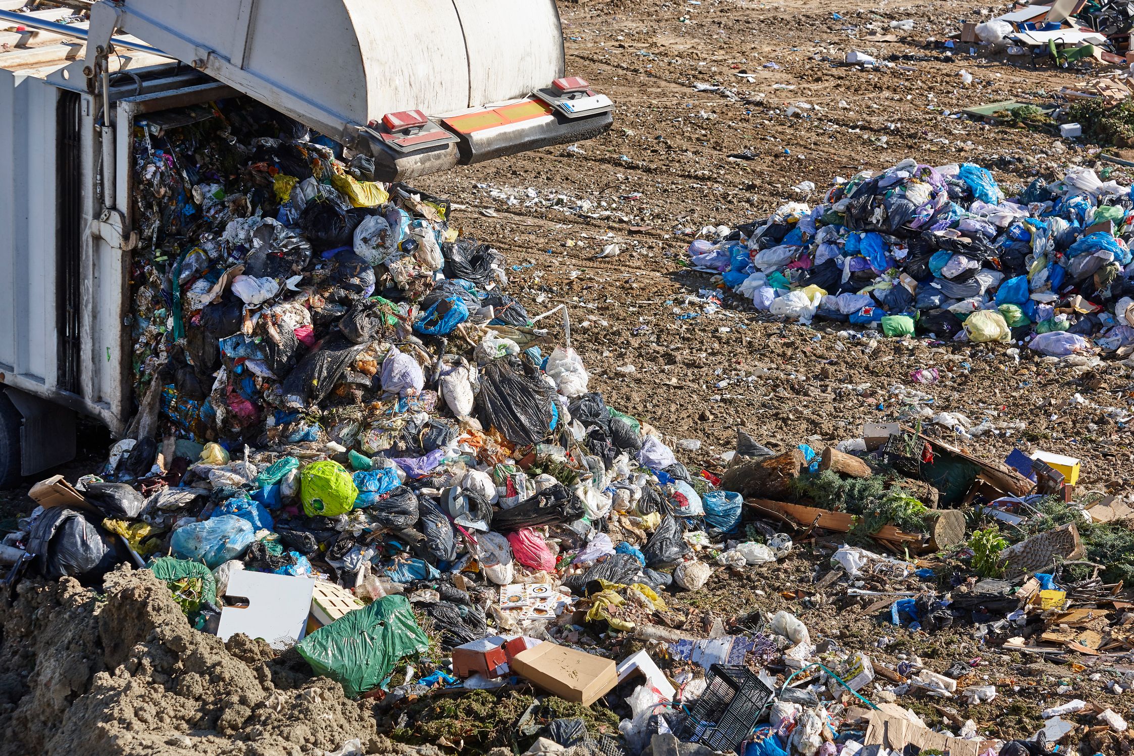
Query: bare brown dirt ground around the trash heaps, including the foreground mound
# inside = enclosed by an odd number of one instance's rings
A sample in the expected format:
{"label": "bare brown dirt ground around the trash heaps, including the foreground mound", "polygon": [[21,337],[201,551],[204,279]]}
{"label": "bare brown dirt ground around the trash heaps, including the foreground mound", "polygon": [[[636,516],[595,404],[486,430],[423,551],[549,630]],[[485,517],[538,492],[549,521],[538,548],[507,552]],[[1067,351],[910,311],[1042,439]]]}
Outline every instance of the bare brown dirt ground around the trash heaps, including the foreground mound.
{"label": "bare brown dirt ground around the trash heaps, including the foreground mound", "polygon": [[[1010,189],[1035,176],[1059,177],[1068,163],[1094,164],[1097,148],[953,117],[1000,100],[1049,101],[1084,78],[1005,56],[962,49],[948,56],[931,43],[963,20],[1005,8],[819,5],[560,2],[568,71],[613,99],[615,127],[577,147],[418,184],[451,197],[464,232],[508,255],[511,290],[523,292],[531,313],[568,305],[572,342],[592,369],[592,390],[667,435],[701,442],[699,451],[682,452],[687,464],[718,468],[737,427],[782,450],[856,438],[864,422],[949,411],[973,426],[989,419],[992,430],[957,440],[978,455],[1002,459],[1013,447],[1032,445],[1070,453],[1083,459],[1088,487],[1125,490],[1134,477],[1126,417],[1134,380],[1126,366],[1074,369],[1026,349],[1017,360],[1007,346],[962,348],[784,325],[728,297],[717,307],[702,295],[716,284],[683,263],[702,227],[758,220],[788,201],[818,202],[835,176],[905,158],[970,161],[993,169]],[[905,19],[914,22],[911,31],[890,27]],[[868,40],[875,34],[899,39]],[[850,49],[894,66],[843,66]],[[962,70],[972,74],[970,86]],[[787,116],[789,107],[801,114]],[[729,158],[736,154],[746,156]],[[1111,178],[1129,181],[1120,171]],[[804,180],[819,187],[810,197],[793,189]],[[610,244],[619,254],[598,258]],[[940,382],[912,384],[909,373],[920,367],[938,367]],[[31,508],[23,492],[9,500],[9,510]],[[828,569],[827,554],[801,546],[779,564],[720,570],[682,603],[722,617],[787,609],[813,639],[869,651],[888,664],[914,654],[937,671],[974,662],[978,683],[998,688],[991,703],[899,698],[954,730],[972,719],[990,737],[1030,736],[1042,724],[1042,708],[1073,697],[1129,719],[1134,698],[1105,687],[1122,677],[1126,660],[1070,660],[1082,664],[1076,669],[1002,655],[972,628],[926,636],[882,625],[878,612],[810,589]],[[104,598],[73,581],[25,588],[17,611],[3,619],[0,754],[293,756],[333,750],[349,738],[359,738],[367,753],[399,748],[379,734],[371,703],[347,702],[338,686],[269,662],[259,646],[226,649],[189,631],[152,583],[118,576]],[[916,581],[891,589],[906,585]],[[796,588],[804,595],[781,595]],[[874,649],[881,636],[892,643]],[[445,742],[433,733],[432,745],[414,750],[454,753],[465,730],[469,753],[499,745],[472,739],[473,720],[483,712],[469,703],[466,714],[467,722],[459,706],[445,710],[452,717]],[[404,721],[396,729],[418,744],[422,732]],[[1082,730],[1073,741],[1088,754],[1131,749]]]}

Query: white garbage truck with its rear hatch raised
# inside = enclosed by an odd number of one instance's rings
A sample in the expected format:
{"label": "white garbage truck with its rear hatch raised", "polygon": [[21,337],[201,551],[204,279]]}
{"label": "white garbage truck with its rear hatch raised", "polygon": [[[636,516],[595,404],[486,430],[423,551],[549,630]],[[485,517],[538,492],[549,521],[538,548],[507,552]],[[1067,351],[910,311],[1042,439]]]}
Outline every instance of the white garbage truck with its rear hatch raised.
{"label": "white garbage truck with its rear hatch raised", "polygon": [[[135,129],[246,96],[412,179],[594,137],[555,0],[0,3],[0,486],[135,411]],[[76,14],[71,8],[87,8]],[[198,110],[208,111],[208,108]]]}

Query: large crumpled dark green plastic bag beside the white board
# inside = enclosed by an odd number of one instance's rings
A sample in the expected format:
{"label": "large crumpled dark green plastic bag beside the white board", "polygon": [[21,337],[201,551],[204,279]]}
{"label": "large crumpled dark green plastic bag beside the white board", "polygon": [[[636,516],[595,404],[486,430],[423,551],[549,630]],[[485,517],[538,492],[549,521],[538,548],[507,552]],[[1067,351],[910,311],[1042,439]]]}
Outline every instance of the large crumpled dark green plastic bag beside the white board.
{"label": "large crumpled dark green plastic bag beside the white board", "polygon": [[405,596],[386,596],[299,642],[296,651],[315,674],[342,686],[352,698],[379,685],[398,660],[429,649]]}

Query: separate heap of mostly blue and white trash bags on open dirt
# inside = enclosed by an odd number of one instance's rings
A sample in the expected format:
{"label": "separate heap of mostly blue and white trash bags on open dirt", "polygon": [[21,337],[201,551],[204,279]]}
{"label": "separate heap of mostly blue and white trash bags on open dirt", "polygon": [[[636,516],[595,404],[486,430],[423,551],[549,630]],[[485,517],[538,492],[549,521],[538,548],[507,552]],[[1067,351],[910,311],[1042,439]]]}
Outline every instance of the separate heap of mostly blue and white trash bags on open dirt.
{"label": "separate heap of mostly blue and white trash bags on open dirt", "polygon": [[1089,168],[1006,198],[980,165],[905,160],[836,179],[815,206],[704,229],[688,254],[773,315],[1061,357],[1134,345],[1132,232],[1131,188]]}

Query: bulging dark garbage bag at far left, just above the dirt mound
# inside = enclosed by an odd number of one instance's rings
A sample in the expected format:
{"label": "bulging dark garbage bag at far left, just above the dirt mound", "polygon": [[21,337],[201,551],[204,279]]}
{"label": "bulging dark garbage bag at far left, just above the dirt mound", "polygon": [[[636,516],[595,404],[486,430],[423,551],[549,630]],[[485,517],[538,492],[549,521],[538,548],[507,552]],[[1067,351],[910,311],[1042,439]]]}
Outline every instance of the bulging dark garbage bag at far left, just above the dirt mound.
{"label": "bulging dark garbage bag at far left, just above the dirt mound", "polygon": [[102,576],[128,559],[118,536],[95,524],[93,516],[50,507],[35,518],[27,540],[32,567],[49,580],[77,578],[83,585],[98,585]]}

